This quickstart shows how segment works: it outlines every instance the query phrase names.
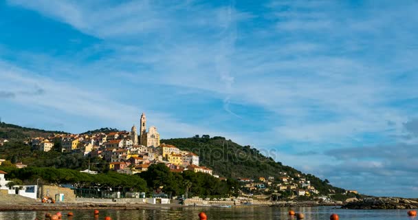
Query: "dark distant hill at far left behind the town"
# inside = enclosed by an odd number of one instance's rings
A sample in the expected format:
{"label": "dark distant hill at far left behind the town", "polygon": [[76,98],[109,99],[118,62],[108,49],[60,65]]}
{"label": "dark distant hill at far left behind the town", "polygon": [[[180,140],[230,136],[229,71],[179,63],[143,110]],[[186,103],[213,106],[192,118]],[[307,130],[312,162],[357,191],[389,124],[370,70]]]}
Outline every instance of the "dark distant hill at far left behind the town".
{"label": "dark distant hill at far left behind the town", "polygon": [[54,133],[66,132],[31,129],[15,124],[7,124],[5,122],[0,122],[0,139],[23,140],[26,137],[48,137]]}

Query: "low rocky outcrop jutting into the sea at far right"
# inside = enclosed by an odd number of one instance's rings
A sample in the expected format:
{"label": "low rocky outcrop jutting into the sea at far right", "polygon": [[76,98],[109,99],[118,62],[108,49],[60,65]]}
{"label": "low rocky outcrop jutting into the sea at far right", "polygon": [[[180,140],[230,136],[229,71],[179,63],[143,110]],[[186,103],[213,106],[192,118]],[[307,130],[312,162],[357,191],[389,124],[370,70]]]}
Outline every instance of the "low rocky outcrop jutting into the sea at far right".
{"label": "low rocky outcrop jutting into the sea at far right", "polygon": [[368,197],[342,206],[347,209],[417,209],[418,199]]}

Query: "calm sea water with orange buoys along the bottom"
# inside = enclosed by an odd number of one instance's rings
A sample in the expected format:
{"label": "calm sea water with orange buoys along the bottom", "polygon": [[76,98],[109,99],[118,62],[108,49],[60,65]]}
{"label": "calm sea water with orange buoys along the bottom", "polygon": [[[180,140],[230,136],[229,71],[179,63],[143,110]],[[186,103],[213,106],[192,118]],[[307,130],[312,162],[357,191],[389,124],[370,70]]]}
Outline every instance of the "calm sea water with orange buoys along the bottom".
{"label": "calm sea water with orange buoys along the bottom", "polygon": [[[306,220],[329,219],[331,213],[340,215],[340,219],[362,220],[418,220],[408,217],[407,210],[342,210],[339,208],[313,207],[296,208],[303,212]],[[206,212],[208,219],[285,219],[294,220],[287,215],[288,208],[245,207],[245,208],[173,208],[144,210],[100,210],[98,219],[110,216],[113,220],[131,219],[199,219],[199,212]],[[56,211],[52,212],[55,213]],[[68,211],[63,211],[63,220],[95,220],[93,210],[73,210],[74,217],[67,217]],[[45,211],[40,212],[0,212],[0,220],[30,220],[44,218]]]}

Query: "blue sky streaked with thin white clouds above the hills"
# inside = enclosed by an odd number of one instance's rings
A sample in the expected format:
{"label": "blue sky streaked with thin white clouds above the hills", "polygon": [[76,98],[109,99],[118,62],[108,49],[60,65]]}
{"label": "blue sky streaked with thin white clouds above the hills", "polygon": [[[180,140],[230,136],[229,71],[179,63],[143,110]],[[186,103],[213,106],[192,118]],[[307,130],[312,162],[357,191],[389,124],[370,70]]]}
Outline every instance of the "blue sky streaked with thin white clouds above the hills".
{"label": "blue sky streaked with thin white clouds above the hills", "polygon": [[0,1],[3,122],[219,135],[418,197],[418,1]]}

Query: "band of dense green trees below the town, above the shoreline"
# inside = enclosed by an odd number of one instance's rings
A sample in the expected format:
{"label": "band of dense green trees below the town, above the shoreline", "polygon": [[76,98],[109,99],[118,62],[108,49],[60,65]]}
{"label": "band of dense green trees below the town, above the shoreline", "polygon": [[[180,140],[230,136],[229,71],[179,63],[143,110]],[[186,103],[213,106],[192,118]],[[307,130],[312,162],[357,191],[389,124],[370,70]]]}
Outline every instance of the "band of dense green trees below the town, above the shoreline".
{"label": "band of dense green trees below the town, above the shoreline", "polygon": [[220,181],[211,175],[186,171],[172,173],[164,164],[153,164],[140,175],[124,175],[113,171],[90,175],[67,168],[27,167],[18,169],[10,164],[0,166],[13,184],[72,184],[75,188],[122,188],[124,191],[162,192],[170,196],[228,197],[238,195],[239,183]]}

